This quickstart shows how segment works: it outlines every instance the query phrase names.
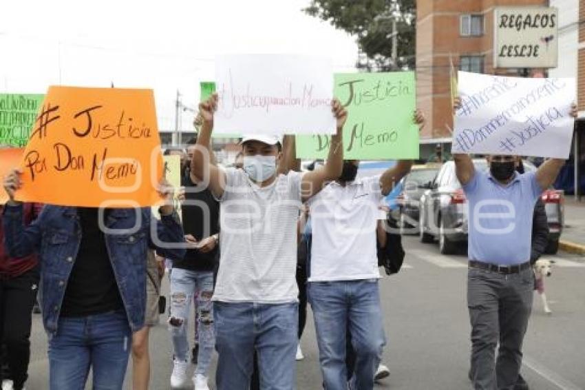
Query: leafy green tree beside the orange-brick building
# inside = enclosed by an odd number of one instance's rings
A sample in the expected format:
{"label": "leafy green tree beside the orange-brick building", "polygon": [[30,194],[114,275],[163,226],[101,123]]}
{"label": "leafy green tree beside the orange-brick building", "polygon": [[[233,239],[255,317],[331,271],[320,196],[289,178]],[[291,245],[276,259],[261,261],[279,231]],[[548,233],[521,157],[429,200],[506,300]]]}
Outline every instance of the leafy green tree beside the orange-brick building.
{"label": "leafy green tree beside the orange-brick building", "polygon": [[[392,3],[398,9],[392,12]],[[357,36],[367,61],[359,68],[395,70],[415,65],[415,0],[312,0],[304,12]],[[392,19],[397,17],[398,63],[392,63]]]}

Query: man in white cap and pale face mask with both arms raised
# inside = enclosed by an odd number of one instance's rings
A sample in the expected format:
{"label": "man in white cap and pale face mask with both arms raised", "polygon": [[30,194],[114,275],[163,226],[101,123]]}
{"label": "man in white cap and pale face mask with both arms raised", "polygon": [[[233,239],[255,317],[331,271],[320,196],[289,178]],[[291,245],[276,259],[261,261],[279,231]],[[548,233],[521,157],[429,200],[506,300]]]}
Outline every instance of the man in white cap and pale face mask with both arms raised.
{"label": "man in white cap and pale face mask with both arms raised", "polygon": [[243,170],[209,163],[216,107],[216,94],[200,105],[204,123],[191,172],[207,181],[220,201],[221,258],[213,295],[217,389],[248,389],[254,351],[262,389],[295,389],[299,209],[302,201],[341,174],[347,113],[333,101],[337,134],[324,167],[306,174],[277,174],[277,136],[244,136]]}

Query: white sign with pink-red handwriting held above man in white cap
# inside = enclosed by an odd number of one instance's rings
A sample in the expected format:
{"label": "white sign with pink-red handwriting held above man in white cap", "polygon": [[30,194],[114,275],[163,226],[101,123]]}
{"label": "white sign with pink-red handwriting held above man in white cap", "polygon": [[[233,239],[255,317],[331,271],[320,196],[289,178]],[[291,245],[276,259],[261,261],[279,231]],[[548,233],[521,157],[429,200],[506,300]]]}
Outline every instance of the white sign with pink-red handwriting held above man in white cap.
{"label": "white sign with pink-red handwriting held above man in white cap", "polygon": [[214,133],[334,134],[330,61],[290,55],[217,57]]}

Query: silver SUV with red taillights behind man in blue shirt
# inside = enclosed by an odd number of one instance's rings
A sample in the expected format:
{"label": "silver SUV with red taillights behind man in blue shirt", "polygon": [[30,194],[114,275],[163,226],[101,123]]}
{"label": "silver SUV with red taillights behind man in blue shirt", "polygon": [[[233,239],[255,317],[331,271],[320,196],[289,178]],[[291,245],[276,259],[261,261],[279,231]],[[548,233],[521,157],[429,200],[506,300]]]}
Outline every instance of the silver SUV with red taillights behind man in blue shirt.
{"label": "silver SUV with red taillights behind man in blue shirt", "polygon": [[[485,159],[474,159],[476,170],[487,170]],[[524,161],[524,170],[531,172],[536,167]],[[425,185],[421,196],[419,211],[419,236],[423,243],[438,240],[442,254],[453,254],[467,245],[469,212],[467,198],[455,174],[454,161],[448,161],[438,172],[431,183]],[[542,201],[549,220],[549,245],[547,254],[558,251],[559,239],[564,223],[564,192],[557,189],[546,189]]]}

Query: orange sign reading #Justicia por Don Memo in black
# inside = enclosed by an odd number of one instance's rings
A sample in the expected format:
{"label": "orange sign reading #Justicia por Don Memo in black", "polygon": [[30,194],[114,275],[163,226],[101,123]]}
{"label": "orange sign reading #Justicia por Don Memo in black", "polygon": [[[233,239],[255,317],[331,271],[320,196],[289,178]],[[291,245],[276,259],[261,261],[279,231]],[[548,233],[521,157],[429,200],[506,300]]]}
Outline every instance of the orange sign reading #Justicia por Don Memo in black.
{"label": "orange sign reading #Justicia por Don Memo in black", "polygon": [[20,166],[19,201],[158,203],[162,156],[152,90],[50,87]]}

